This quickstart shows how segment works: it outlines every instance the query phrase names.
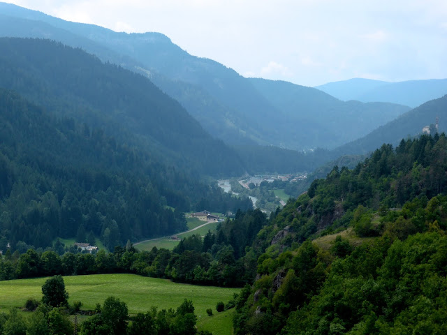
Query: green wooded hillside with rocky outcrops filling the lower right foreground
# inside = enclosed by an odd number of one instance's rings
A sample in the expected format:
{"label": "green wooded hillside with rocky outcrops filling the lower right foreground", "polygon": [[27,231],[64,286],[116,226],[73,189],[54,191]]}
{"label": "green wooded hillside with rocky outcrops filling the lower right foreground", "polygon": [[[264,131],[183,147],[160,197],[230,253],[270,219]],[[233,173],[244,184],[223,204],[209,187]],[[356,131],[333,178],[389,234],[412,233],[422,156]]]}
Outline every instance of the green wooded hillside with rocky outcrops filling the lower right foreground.
{"label": "green wooded hillside with rocky outcrops filling the lower right foreground", "polygon": [[270,216],[235,334],[444,334],[446,153],[444,134],[383,144]]}

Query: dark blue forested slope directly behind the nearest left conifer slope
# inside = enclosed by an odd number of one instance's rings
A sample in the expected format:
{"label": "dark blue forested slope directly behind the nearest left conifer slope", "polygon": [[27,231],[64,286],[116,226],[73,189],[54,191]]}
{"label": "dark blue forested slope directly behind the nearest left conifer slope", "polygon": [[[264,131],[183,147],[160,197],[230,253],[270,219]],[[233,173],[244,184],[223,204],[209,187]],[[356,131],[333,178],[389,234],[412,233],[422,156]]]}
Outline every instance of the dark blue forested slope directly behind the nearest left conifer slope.
{"label": "dark blue forested slope directly behind the nearest left conifer slope", "polygon": [[[101,126],[118,140],[139,137],[161,161],[200,174],[242,174],[235,152],[142,75],[50,40],[1,38],[0,87],[48,110]],[[198,159],[200,158],[200,159]]]}

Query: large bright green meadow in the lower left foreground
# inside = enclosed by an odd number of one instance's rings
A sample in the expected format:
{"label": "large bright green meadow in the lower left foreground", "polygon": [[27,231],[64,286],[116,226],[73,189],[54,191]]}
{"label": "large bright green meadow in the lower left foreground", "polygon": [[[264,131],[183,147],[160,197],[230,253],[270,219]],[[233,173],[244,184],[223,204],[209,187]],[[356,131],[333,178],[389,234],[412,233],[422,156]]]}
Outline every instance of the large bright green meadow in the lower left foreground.
{"label": "large bright green meadow in the lower left foreground", "polygon": [[[0,311],[22,307],[29,297],[41,299],[42,285],[47,278],[0,281]],[[215,311],[217,302],[228,302],[237,288],[217,288],[173,283],[166,279],[149,278],[135,274],[95,274],[64,277],[69,303],[82,301],[82,309],[94,309],[113,295],[126,302],[129,313],[146,312],[151,306],[177,308],[184,299],[191,299],[200,320],[210,318],[206,309]],[[216,312],[217,313],[217,312]]]}

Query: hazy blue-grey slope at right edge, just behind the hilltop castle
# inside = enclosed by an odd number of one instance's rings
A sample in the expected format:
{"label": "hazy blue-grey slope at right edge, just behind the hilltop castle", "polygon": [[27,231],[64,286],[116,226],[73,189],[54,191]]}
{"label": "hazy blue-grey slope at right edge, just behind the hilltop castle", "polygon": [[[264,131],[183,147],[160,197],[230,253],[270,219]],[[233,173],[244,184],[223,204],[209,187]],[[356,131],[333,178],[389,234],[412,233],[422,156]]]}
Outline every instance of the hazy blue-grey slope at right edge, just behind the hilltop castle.
{"label": "hazy blue-grey slope at right edge, just behind the hilltop castle", "polygon": [[373,151],[381,143],[390,143],[396,146],[402,138],[413,137],[422,133],[424,126],[436,123],[439,117],[439,132],[446,131],[447,119],[447,95],[432,101],[428,101],[419,107],[402,114],[397,119],[380,126],[365,137],[344,144],[331,151],[334,157],[342,154],[367,154]]}

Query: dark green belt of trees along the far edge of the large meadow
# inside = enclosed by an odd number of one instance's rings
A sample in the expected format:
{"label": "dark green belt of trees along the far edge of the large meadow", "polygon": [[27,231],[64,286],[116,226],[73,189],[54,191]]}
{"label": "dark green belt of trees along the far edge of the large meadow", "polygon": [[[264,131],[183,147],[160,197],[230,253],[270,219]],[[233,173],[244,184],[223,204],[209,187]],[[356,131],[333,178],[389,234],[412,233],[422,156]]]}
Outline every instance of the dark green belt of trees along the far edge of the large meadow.
{"label": "dark green belt of trees along the far edge of the large meadow", "polygon": [[[182,283],[241,287],[252,283],[256,276],[256,258],[250,251],[256,234],[267,224],[258,209],[237,211],[233,221],[227,220],[205,237],[191,235],[182,239],[173,251],[152,248],[138,251],[130,241],[125,247],[116,246],[112,253],[101,249],[97,253],[80,252],[75,246],[65,246],[59,239],[45,251],[27,250],[18,244],[6,248],[0,259],[0,280],[36,276],[74,276],[82,274],[130,273],[169,278]],[[13,252],[12,252],[13,250]]]}

